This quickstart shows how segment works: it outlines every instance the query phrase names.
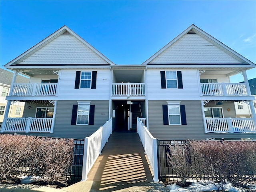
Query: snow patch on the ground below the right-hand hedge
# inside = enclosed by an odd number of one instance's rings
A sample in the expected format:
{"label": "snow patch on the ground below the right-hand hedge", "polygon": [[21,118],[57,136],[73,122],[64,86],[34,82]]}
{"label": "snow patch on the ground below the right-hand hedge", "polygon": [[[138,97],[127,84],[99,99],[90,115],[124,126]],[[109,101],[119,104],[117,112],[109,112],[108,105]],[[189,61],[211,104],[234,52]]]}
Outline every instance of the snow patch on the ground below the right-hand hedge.
{"label": "snow patch on the ground below the right-hand hedge", "polygon": [[[167,185],[166,188],[170,190],[170,192],[203,192],[203,191],[218,191],[218,190],[225,190],[228,192],[243,192],[243,188],[237,188],[232,186],[231,183],[226,184],[213,184],[213,183],[192,183],[188,187],[180,187],[176,184]],[[248,189],[256,190],[256,185],[251,184],[248,185]]]}

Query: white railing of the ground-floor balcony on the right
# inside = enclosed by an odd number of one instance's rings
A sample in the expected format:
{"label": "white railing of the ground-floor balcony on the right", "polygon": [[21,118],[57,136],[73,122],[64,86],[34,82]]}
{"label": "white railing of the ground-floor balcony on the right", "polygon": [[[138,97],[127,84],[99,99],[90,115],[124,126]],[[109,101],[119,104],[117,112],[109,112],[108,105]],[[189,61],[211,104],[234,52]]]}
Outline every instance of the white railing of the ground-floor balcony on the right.
{"label": "white railing of the ground-floor balcony on the right", "polygon": [[256,132],[252,118],[206,118],[206,133]]}

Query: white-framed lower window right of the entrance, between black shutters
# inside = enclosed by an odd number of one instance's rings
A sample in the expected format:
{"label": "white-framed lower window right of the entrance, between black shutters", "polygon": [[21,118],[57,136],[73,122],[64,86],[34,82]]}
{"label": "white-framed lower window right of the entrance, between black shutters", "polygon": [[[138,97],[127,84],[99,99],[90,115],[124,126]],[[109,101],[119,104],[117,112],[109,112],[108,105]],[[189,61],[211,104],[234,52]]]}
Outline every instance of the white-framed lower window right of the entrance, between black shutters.
{"label": "white-framed lower window right of the entrance, between black shutters", "polygon": [[181,125],[180,104],[168,104],[169,125]]}

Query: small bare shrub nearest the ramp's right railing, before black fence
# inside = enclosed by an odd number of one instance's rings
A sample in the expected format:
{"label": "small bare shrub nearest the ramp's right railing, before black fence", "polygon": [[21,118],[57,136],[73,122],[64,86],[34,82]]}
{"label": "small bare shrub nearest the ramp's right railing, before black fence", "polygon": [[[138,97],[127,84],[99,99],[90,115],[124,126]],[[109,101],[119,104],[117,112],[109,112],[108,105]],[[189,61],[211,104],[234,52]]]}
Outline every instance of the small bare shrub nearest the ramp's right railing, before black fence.
{"label": "small bare shrub nearest the ramp's right railing, before black fence", "polygon": [[178,145],[176,143],[172,145],[168,143],[168,149],[170,150],[170,152],[167,152],[168,166],[172,167],[182,184],[185,185],[191,170],[189,145]]}

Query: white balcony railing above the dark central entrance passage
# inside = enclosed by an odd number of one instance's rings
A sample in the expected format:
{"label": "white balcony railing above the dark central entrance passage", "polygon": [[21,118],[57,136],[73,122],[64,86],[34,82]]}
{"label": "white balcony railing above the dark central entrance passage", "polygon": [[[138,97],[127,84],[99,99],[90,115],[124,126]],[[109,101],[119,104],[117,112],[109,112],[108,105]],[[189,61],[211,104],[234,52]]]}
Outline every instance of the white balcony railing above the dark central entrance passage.
{"label": "white balcony railing above the dark central entrance passage", "polygon": [[112,96],[145,96],[145,84],[113,83]]}

